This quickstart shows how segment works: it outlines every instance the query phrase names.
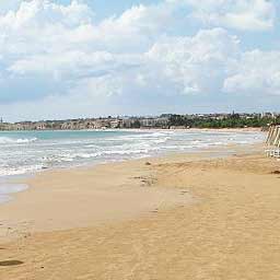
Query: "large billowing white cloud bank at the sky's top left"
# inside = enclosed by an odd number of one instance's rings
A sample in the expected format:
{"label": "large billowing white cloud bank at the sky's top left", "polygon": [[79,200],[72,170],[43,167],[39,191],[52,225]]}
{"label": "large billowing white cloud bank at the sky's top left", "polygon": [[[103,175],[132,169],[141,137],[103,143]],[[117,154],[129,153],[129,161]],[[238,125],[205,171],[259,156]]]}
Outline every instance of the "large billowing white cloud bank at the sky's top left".
{"label": "large billowing white cloud bank at the sky's top left", "polygon": [[94,23],[94,12],[83,2],[62,5],[47,0],[22,1],[18,10],[0,15],[0,51],[138,51],[151,45],[171,21],[172,11],[162,5],[132,7],[119,18]]}

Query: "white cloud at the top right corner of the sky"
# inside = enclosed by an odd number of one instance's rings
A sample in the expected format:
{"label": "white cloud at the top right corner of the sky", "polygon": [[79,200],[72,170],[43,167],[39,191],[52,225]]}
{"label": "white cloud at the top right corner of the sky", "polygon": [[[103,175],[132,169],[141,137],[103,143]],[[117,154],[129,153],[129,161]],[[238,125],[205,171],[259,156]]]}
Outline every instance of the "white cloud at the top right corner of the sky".
{"label": "white cloud at the top right corner of the sky", "polygon": [[273,27],[276,5],[269,0],[167,0],[191,7],[191,18],[206,25],[241,31],[267,31]]}

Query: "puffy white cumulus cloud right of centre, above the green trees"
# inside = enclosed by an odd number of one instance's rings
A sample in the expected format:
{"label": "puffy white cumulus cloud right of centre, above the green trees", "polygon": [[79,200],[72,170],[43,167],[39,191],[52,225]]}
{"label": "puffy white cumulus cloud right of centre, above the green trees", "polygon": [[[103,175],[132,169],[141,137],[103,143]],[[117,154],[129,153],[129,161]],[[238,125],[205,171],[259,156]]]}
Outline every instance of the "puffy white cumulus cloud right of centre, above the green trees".
{"label": "puffy white cumulus cloud right of centre, above the green trees", "polygon": [[[148,52],[158,71],[182,94],[211,94],[220,90],[230,60],[238,56],[238,40],[225,30],[200,31],[194,37],[166,38]],[[215,81],[213,83],[213,81]]]}

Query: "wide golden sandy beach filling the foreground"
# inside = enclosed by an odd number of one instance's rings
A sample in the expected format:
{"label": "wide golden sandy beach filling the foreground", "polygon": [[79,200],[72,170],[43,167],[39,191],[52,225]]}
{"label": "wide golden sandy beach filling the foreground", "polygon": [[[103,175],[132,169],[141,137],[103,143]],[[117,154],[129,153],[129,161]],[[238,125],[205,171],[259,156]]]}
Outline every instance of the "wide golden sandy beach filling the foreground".
{"label": "wide golden sandy beach filling the foreground", "polygon": [[28,179],[0,206],[0,279],[279,279],[279,162],[228,149]]}

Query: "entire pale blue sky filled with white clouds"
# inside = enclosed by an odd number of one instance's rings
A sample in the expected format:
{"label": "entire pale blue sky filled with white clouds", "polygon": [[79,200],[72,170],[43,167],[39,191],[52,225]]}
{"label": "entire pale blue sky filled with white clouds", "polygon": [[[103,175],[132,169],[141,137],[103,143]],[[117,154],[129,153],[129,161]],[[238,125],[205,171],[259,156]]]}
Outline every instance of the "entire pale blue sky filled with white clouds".
{"label": "entire pale blue sky filled with white clouds", "polygon": [[0,0],[8,121],[280,112],[278,0]]}

